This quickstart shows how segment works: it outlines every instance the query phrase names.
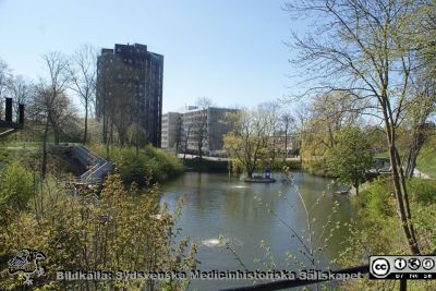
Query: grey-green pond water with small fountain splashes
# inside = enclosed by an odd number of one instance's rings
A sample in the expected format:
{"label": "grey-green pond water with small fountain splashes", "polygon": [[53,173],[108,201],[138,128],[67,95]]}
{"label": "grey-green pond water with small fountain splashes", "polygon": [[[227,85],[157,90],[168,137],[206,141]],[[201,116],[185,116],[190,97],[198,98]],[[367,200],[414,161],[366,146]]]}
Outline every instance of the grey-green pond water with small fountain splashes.
{"label": "grey-green pond water with small fountain splashes", "polygon": [[[319,204],[310,211],[314,241],[317,242],[323,233],[323,225],[331,215],[335,202],[339,202],[339,206],[337,214],[332,216],[332,222],[350,221],[353,208],[348,197],[332,194],[331,179],[314,177],[303,171],[292,174],[307,208],[311,209],[320,198]],[[178,226],[183,229],[182,237],[190,237],[191,242],[198,245],[199,270],[244,269],[234,254],[219,243],[219,235],[223,235],[223,242],[232,246],[250,270],[268,269],[262,262],[255,262],[255,258],[261,258],[268,264],[274,260],[278,270],[298,271],[298,265],[287,259],[287,253],[308,263],[299,254],[302,244],[291,237],[290,230],[292,228],[306,238],[307,216],[295,186],[280,182],[279,174],[276,178],[278,181],[275,183],[255,184],[244,183],[228,174],[189,172],[162,186],[161,203],[167,203],[170,209],[175,208],[180,198],[184,199]],[[262,204],[256,197],[262,199]],[[329,229],[326,232],[329,233]],[[328,242],[328,248],[317,256],[319,268],[330,266],[329,262],[342,248],[347,234],[344,228],[336,232]],[[270,247],[270,255],[266,255],[265,248],[261,247],[262,241]],[[322,242],[324,244],[324,238]],[[193,280],[190,289],[218,290],[247,284],[252,284],[252,281]]]}

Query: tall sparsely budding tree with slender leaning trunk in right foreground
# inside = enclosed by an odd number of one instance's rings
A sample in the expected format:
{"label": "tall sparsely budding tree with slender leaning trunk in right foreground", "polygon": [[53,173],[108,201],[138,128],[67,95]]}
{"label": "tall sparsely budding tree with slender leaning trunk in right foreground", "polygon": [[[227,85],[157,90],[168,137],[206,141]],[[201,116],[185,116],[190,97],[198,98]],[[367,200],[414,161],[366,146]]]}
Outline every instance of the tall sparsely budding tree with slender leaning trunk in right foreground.
{"label": "tall sparsely budding tree with slender leaning trunk in right foreground", "polygon": [[299,53],[292,62],[311,72],[306,93],[340,90],[349,98],[371,100],[371,113],[383,120],[401,226],[410,251],[419,254],[397,150],[397,128],[415,68],[415,50],[402,35],[410,25],[404,21],[410,5],[397,0],[310,0],[286,8],[294,17],[316,16],[317,32],[304,38],[293,35]]}

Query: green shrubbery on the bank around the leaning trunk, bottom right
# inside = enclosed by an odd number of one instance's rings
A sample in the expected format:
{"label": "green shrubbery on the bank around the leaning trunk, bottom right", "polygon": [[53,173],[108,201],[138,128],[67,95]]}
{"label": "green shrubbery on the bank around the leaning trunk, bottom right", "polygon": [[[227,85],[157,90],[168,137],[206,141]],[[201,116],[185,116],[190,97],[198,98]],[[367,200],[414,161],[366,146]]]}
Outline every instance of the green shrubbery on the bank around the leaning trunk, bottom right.
{"label": "green shrubbery on the bank around the leaning trunk, bottom right", "polygon": [[[410,209],[415,237],[420,251],[432,253],[436,250],[436,182],[432,180],[412,179],[407,181]],[[393,185],[389,178],[374,180],[371,185],[353,197],[358,211],[356,220],[350,227],[346,247],[339,256],[339,264],[351,267],[367,264],[371,254],[408,254],[401,223],[397,214],[396,199],[392,196]],[[375,239],[376,238],[376,239]],[[411,290],[434,290],[434,283],[410,280]],[[389,290],[396,287],[390,286]],[[386,286],[377,280],[350,280],[344,290],[386,290]]]}

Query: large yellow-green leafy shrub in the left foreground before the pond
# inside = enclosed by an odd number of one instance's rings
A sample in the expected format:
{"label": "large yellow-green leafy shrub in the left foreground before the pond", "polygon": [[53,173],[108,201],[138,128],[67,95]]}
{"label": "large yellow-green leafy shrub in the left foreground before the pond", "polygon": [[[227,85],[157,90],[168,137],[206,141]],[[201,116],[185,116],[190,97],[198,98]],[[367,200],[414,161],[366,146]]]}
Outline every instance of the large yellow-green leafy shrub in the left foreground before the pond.
{"label": "large yellow-green leafy shrub in the left foreground before the pond", "polygon": [[[126,190],[118,174],[109,174],[99,198],[93,190],[71,195],[72,184],[44,183],[35,209],[16,214],[0,225],[0,267],[19,250],[33,248],[46,255],[46,276],[34,277],[32,290],[185,290],[187,280],[55,280],[66,270],[189,271],[195,268],[196,246],[175,229],[181,202],[173,214],[160,207],[159,189]],[[135,195],[132,195],[135,194]],[[8,269],[7,269],[8,270]],[[31,290],[24,276],[0,276],[1,290]],[[153,288],[150,288],[153,287]]]}

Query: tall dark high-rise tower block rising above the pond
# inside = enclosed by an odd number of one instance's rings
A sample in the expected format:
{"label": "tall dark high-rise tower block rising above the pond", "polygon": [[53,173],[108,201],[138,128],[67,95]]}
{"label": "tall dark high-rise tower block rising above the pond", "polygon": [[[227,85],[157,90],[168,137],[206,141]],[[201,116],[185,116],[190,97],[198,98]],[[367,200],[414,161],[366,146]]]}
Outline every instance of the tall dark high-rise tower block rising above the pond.
{"label": "tall dark high-rise tower block rising above the pond", "polygon": [[136,123],[147,140],[160,147],[164,56],[147,46],[119,45],[101,49],[97,60],[96,114],[102,121],[104,142],[118,136],[128,140],[128,129]]}

